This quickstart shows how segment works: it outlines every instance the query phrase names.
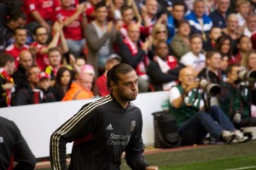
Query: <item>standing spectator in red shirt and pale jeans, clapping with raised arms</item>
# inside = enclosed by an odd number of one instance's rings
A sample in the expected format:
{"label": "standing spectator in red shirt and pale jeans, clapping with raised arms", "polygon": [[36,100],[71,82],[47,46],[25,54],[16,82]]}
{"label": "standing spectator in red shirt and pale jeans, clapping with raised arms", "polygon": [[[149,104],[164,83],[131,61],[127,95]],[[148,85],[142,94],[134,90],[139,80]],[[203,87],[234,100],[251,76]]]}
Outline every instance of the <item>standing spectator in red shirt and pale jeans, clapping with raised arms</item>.
{"label": "standing spectator in red shirt and pale jeans, clapping with raised arms", "polygon": [[73,7],[72,0],[61,0],[61,7],[55,10],[55,20],[63,20],[64,35],[71,54],[79,57],[84,49],[83,28],[86,26],[86,15],[83,14],[85,3]]}

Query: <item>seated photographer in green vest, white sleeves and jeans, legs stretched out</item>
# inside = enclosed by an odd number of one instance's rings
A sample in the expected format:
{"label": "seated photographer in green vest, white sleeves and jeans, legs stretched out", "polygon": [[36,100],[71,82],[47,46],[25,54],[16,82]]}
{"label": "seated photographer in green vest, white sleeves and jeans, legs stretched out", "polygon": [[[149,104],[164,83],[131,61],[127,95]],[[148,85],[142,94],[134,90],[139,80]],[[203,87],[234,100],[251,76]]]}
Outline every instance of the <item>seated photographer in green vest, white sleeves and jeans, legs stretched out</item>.
{"label": "seated photographer in green vest, white sleeves and jeans, legs stretched out", "polygon": [[201,90],[197,90],[200,82],[195,81],[194,75],[191,68],[183,68],[178,77],[180,84],[170,90],[170,111],[177,119],[183,144],[203,144],[207,133],[226,143],[247,140],[217,106],[212,106],[209,112],[203,111]]}

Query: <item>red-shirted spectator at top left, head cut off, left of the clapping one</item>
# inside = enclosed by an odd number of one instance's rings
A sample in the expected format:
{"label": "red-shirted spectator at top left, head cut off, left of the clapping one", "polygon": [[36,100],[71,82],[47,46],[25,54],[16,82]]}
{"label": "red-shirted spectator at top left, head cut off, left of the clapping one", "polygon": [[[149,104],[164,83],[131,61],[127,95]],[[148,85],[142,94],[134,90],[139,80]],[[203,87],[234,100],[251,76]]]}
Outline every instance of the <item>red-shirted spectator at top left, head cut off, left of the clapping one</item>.
{"label": "red-shirted spectator at top left, head cut off, left of the clapping one", "polygon": [[55,8],[59,6],[59,0],[24,0],[27,28],[33,31],[37,26],[44,26],[50,31]]}

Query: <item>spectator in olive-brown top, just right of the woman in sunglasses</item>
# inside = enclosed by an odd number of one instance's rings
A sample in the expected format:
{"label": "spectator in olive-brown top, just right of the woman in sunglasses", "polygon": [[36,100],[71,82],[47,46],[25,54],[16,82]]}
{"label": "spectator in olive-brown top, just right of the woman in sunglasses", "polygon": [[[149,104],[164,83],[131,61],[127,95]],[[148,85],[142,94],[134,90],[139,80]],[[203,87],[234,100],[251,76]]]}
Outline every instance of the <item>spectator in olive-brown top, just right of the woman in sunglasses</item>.
{"label": "spectator in olive-brown top, just right of the woman in sunglasses", "polygon": [[170,46],[174,55],[177,59],[180,59],[184,54],[190,51],[189,49],[189,34],[190,26],[189,21],[183,20],[179,23],[177,27],[177,34],[172,38]]}

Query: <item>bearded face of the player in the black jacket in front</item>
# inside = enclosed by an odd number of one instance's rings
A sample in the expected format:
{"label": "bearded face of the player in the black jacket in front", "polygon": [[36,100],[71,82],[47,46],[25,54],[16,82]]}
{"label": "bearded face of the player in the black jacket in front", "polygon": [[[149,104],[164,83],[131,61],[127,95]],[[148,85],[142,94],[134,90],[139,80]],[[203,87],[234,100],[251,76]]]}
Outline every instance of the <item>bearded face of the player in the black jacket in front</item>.
{"label": "bearded face of the player in the black jacket in front", "polygon": [[119,81],[112,84],[114,94],[117,94],[117,97],[124,102],[135,100],[138,94],[136,71],[127,74],[119,73],[118,77]]}

